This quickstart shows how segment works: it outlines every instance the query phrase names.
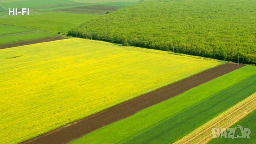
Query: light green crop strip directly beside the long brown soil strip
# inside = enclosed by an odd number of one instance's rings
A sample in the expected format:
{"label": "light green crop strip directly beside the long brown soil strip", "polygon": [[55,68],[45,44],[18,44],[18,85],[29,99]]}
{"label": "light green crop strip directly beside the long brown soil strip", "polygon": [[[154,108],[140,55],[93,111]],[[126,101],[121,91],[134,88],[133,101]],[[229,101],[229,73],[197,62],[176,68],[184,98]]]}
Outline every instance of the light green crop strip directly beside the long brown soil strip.
{"label": "light green crop strip directly beside the long brown soil strip", "polygon": [[90,134],[70,143],[112,144],[120,142],[125,138],[148,128],[149,126],[152,126],[160,120],[181,112],[185,108],[188,108],[189,106],[208,98],[212,94],[220,92],[221,90],[252,76],[253,74],[256,74],[256,67],[245,66],[205,84],[192,88],[179,96],[141,110],[129,118],[104,126],[103,128],[91,132]]}

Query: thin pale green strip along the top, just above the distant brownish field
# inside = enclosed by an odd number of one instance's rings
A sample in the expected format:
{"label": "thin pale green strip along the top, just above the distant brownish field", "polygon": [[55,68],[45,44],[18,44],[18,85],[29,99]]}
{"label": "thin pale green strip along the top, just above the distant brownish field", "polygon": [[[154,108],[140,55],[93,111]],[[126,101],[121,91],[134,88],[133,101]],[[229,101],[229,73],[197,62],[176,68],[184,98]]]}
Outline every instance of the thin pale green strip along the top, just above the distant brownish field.
{"label": "thin pale green strip along the top, just above the distant brownish field", "polygon": [[80,6],[94,6],[94,5],[105,5],[105,6],[132,6],[136,4],[137,2],[103,2],[103,3],[88,3],[88,4],[78,4],[78,5],[70,5],[70,6],[56,6],[51,8],[40,8],[40,9],[34,9],[34,11],[49,11],[49,10],[59,10],[63,8],[75,8]]}

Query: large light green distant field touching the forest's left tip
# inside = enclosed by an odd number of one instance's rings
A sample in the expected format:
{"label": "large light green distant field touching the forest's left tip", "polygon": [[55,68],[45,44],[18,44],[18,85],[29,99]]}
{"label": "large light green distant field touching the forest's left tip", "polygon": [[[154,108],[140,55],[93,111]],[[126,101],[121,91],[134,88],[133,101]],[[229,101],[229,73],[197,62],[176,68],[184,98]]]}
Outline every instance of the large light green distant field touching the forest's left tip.
{"label": "large light green distant field touching the forest's left tip", "polygon": [[73,26],[77,26],[78,24],[98,16],[100,15],[48,12],[33,14],[30,16],[12,16],[0,18],[0,23],[23,26],[27,28],[37,28],[56,33],[62,31],[63,33],[67,33],[68,30],[70,30],[70,28]]}

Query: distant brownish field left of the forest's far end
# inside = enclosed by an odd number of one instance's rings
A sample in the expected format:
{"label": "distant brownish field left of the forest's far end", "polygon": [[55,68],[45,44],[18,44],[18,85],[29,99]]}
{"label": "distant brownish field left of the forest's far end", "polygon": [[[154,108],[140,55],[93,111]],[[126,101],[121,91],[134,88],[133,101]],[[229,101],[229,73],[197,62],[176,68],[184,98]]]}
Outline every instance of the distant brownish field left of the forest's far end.
{"label": "distant brownish field left of the forest's far end", "polygon": [[60,10],[54,10],[54,12],[71,12],[71,13],[79,13],[79,14],[105,14],[106,12],[114,12],[122,8],[124,7],[93,5],[93,6],[80,6],[75,8],[64,8]]}

